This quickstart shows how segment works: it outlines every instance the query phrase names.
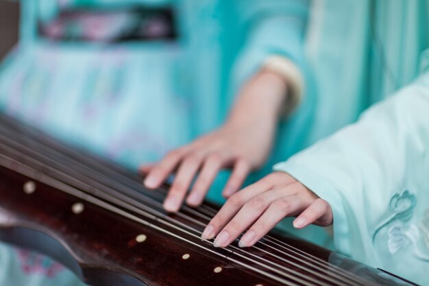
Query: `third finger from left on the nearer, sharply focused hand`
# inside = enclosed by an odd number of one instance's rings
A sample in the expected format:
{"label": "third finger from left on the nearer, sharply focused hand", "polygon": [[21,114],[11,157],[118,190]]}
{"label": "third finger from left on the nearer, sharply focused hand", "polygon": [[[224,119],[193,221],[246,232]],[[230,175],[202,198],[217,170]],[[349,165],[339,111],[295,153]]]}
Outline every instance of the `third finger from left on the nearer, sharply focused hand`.
{"label": "third finger from left on the nearer, sharply focused hand", "polygon": [[253,246],[259,239],[264,237],[269,230],[273,229],[284,217],[288,217],[302,208],[302,202],[296,195],[275,200],[263,213],[254,225],[241,237],[238,246]]}

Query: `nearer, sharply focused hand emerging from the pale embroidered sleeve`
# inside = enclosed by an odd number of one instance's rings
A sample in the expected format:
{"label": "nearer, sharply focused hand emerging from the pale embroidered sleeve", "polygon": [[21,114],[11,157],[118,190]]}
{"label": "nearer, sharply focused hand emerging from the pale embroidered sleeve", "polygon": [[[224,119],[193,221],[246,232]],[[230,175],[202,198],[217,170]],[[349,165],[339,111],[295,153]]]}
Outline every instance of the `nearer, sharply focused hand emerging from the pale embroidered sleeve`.
{"label": "nearer, sharply focused hand emerging from the pale embroidered sleeve", "polygon": [[209,222],[203,239],[216,237],[214,246],[226,247],[244,230],[240,247],[253,246],[284,217],[297,216],[295,228],[332,224],[330,204],[284,172],[269,174],[232,195]]}

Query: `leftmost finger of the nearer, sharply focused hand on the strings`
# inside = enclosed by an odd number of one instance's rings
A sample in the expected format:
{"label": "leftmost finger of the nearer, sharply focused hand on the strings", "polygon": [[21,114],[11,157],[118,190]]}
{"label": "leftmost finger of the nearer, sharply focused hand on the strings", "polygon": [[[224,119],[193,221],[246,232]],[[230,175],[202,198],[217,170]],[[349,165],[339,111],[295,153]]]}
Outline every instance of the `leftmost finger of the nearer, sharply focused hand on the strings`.
{"label": "leftmost finger of the nearer, sharply focused hand on the strings", "polygon": [[212,220],[206,226],[202,239],[212,239],[219,233],[219,231],[238,213],[241,207],[248,200],[254,198],[254,196],[263,193],[271,188],[271,184],[268,180],[262,179],[258,182],[251,184],[238,193],[234,193],[226,202],[223,204],[220,211],[212,218]]}

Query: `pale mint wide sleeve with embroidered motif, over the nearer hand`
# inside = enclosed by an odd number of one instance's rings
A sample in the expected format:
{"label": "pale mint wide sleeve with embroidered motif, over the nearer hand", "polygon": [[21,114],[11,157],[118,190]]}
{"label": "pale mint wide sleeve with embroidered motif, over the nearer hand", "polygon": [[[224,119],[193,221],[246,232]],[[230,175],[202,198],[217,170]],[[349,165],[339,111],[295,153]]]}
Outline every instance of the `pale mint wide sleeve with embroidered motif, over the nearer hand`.
{"label": "pale mint wide sleeve with embroidered motif, over the nearer hand", "polygon": [[404,276],[429,269],[428,71],[274,169],[328,201],[343,254]]}

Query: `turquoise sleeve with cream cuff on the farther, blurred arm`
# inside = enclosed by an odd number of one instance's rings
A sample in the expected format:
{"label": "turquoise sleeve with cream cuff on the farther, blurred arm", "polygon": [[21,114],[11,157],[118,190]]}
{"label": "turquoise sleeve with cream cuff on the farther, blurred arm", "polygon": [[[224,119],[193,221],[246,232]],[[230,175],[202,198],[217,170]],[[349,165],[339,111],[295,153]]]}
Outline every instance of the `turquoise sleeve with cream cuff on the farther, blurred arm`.
{"label": "turquoise sleeve with cream cuff on the farther, blurred arm", "polygon": [[233,67],[236,89],[254,73],[267,68],[284,76],[289,102],[296,105],[304,91],[304,34],[307,0],[238,1],[245,26],[245,45]]}

